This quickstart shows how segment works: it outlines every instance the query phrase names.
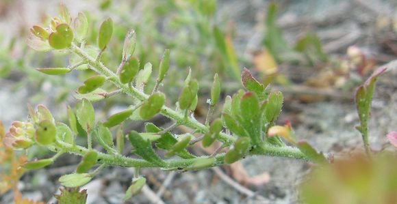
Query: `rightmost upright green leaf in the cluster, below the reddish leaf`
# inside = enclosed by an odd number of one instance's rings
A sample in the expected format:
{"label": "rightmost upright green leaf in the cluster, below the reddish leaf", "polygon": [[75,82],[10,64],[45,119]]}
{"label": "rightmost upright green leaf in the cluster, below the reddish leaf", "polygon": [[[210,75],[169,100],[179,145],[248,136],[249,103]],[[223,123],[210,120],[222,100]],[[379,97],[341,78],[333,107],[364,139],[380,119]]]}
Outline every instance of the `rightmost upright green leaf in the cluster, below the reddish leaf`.
{"label": "rightmost upright green leaf in the cluster, below the reddish leaf", "polygon": [[268,102],[265,105],[265,117],[268,123],[274,123],[281,113],[283,107],[283,93],[280,91],[270,93]]}

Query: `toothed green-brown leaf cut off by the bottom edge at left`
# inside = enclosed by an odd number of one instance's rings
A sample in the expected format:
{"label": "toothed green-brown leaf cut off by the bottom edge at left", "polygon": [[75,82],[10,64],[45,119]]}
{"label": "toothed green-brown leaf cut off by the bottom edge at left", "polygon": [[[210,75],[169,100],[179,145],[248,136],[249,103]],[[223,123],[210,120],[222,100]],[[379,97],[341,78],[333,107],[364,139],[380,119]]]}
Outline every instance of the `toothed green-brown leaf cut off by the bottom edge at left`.
{"label": "toothed green-brown leaf cut off by the bottom edge at left", "polygon": [[79,192],[79,188],[61,188],[60,192],[60,195],[55,195],[58,204],[86,204],[86,189]]}

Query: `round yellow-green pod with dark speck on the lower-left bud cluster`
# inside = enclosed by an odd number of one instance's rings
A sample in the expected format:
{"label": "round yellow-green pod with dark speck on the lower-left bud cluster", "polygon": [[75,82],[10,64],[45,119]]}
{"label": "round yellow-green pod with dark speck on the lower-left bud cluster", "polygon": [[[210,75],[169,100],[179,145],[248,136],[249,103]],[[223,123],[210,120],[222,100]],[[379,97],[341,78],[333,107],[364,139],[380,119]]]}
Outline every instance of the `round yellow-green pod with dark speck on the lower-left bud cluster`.
{"label": "round yellow-green pod with dark speck on the lower-left bud cluster", "polygon": [[40,145],[49,145],[55,142],[57,129],[52,121],[43,120],[38,123],[36,129],[36,142]]}

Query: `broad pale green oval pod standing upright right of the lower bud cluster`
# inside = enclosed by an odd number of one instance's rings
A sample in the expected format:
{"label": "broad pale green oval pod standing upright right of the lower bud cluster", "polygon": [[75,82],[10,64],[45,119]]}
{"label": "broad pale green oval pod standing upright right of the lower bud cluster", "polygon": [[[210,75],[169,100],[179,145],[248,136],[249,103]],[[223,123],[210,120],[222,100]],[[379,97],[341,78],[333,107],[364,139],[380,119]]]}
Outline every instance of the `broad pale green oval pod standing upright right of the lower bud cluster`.
{"label": "broad pale green oval pod standing upright right of the lower bud cluster", "polygon": [[84,99],[77,103],[77,121],[79,121],[81,128],[90,132],[95,123],[95,111],[91,102]]}

